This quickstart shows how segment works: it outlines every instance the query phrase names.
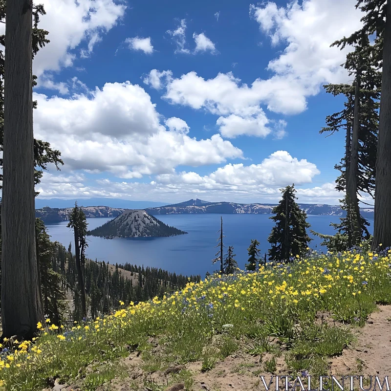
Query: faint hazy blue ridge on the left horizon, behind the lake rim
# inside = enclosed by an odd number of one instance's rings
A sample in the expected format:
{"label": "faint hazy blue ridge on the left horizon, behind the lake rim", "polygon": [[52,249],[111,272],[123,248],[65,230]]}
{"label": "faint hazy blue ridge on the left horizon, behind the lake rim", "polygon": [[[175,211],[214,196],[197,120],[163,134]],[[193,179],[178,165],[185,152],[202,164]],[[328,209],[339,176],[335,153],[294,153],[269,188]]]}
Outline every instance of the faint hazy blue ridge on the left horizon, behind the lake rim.
{"label": "faint hazy blue ridge on the left horizon, behind the lake rim", "polygon": [[105,197],[95,197],[95,198],[79,198],[79,199],[60,199],[60,198],[49,198],[49,199],[35,199],[36,209],[42,209],[45,206],[49,208],[72,208],[75,206],[75,202],[80,206],[88,205],[106,205],[111,208],[121,208],[121,209],[145,209],[152,208],[154,206],[161,206],[161,202],[152,202],[152,201],[133,201],[127,199],[117,199],[117,198],[105,198]]}

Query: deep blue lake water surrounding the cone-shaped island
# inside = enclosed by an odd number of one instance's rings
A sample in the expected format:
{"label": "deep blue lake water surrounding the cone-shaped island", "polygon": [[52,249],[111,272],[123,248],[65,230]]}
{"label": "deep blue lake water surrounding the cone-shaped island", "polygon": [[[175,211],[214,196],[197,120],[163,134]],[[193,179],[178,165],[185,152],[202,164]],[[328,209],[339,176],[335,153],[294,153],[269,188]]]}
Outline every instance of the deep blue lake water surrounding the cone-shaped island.
{"label": "deep blue lake water surrounding the cone-shaped island", "polygon": [[[258,239],[261,243],[261,254],[267,253],[269,243],[267,238],[274,222],[271,215],[236,214],[223,215],[224,245],[234,246],[239,267],[247,262],[247,248],[251,239]],[[172,225],[187,235],[171,238],[141,238],[141,239],[103,239],[88,237],[87,257],[98,261],[107,261],[111,264],[130,262],[137,265],[161,267],[171,272],[181,274],[200,274],[204,277],[207,271],[213,272],[218,265],[212,266],[212,259],[216,258],[220,215],[161,215],[161,221]],[[88,229],[96,228],[110,218],[87,218]],[[307,221],[311,229],[323,234],[333,234],[330,222],[339,222],[337,216],[308,216]],[[372,223],[372,221],[369,221]],[[72,241],[73,232],[66,227],[67,221],[55,225],[48,225],[51,240],[59,241],[66,248]],[[372,232],[372,227],[369,227]],[[320,247],[322,241],[313,237],[311,248],[325,250]]]}

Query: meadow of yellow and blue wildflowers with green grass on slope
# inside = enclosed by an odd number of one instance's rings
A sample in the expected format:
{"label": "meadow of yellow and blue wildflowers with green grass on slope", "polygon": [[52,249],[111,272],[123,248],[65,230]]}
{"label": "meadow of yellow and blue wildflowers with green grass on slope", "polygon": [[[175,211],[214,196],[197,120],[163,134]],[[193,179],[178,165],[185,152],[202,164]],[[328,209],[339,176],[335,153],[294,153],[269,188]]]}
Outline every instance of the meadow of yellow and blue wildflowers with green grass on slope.
{"label": "meadow of yellow and blue wildflowers with green grass on slope", "polygon": [[[309,252],[253,273],[214,275],[70,328],[46,319],[34,341],[3,344],[0,385],[41,390],[58,378],[95,390],[118,374],[111,363],[134,350],[145,370],[199,360],[208,370],[245,348],[284,354],[292,372],[323,374],[325,358],[352,341],[351,328],[363,326],[376,304],[391,303],[390,273],[391,250],[372,253],[364,244],[342,254]],[[329,311],[335,323],[316,322],[319,311]]]}

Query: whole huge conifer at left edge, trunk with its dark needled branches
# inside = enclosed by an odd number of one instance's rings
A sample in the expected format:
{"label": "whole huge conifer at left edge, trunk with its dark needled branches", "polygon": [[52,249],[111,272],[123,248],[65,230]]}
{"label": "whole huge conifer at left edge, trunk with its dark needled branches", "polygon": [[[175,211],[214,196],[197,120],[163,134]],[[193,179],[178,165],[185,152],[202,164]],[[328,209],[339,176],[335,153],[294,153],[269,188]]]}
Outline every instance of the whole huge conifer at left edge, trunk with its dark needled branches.
{"label": "whole huge conifer at left edge, trunk with its dark needled branches", "polygon": [[[27,164],[31,165],[33,170],[32,186],[40,182],[42,170],[46,170],[48,163],[54,163],[57,169],[60,164],[63,164],[59,151],[52,150],[49,143],[33,138],[32,109],[37,106],[37,103],[32,101],[32,87],[36,85],[36,77],[32,75],[32,59],[41,47],[49,43],[46,39],[48,32],[38,27],[40,15],[44,13],[43,5],[34,6],[32,1],[0,1],[0,22],[6,24],[6,34],[0,36],[0,44],[7,48],[7,56],[10,56],[7,59],[4,51],[0,50],[0,152],[3,152],[0,157],[0,170],[2,170],[0,181],[5,188],[3,192],[5,202],[1,207],[6,210],[3,216],[6,227],[1,228],[1,235],[4,235],[1,241],[5,246],[5,251],[2,252],[4,270],[1,279],[4,283],[1,290],[3,298],[8,298],[2,302],[1,308],[3,337],[9,334],[31,336],[36,329],[37,319],[42,317],[41,308],[36,304],[39,300],[39,289],[36,287],[38,265],[36,254],[32,254],[32,251],[35,251],[34,201],[31,205],[31,200],[27,201],[24,196],[21,197],[19,191],[12,187],[19,186],[28,197],[31,197],[29,192],[31,174]],[[22,63],[25,65],[23,70],[20,66]],[[28,132],[25,131],[27,128]],[[21,176],[20,172],[22,172]],[[15,186],[12,186],[12,183]],[[10,194],[9,199],[8,194]],[[37,194],[33,189],[32,196]],[[20,222],[17,221],[18,215],[20,215]],[[14,221],[10,224],[11,219]],[[19,230],[18,233],[12,233],[12,229],[9,228],[12,226]],[[21,227],[24,227],[23,233]],[[26,230],[29,231],[29,239],[27,239],[28,244],[23,245],[21,242],[26,239],[24,232]],[[12,240],[18,243],[12,243]],[[30,252],[28,258],[31,260],[27,263],[31,263],[30,265],[25,262],[25,254],[22,254],[27,247]],[[9,251],[7,248],[13,250]],[[23,266],[19,266],[18,262],[24,262]],[[12,270],[12,266],[8,265],[15,265],[17,271]],[[21,273],[29,276],[28,282],[22,281],[24,277]],[[16,281],[12,281],[10,276],[15,276]],[[28,299],[19,300],[19,295]],[[16,305],[11,303],[11,298],[16,301]],[[25,308],[19,311],[23,304]],[[22,312],[22,315],[19,315],[19,312]],[[20,318],[24,319],[20,320]]]}

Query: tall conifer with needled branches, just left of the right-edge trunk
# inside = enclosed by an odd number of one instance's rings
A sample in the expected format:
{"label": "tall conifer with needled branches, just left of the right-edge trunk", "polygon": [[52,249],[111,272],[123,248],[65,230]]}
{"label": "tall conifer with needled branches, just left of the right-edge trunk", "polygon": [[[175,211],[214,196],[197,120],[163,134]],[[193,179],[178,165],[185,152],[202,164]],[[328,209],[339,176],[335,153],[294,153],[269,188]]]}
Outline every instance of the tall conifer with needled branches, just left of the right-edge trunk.
{"label": "tall conifer with needled branches, just left of the right-edge trunk", "polygon": [[[336,41],[331,46],[345,47],[345,39]],[[336,189],[346,191],[346,205],[354,209],[356,221],[352,224],[356,242],[364,235],[369,238],[369,223],[360,216],[358,197],[367,193],[374,197],[376,174],[377,133],[379,126],[379,99],[381,72],[379,71],[379,43],[370,44],[369,38],[362,35],[355,44],[355,50],[348,53],[343,64],[348,74],[354,76],[354,83],[349,85],[328,85],[327,92],[334,96],[344,94],[347,97],[345,109],[326,118],[324,131],[339,131],[346,128],[345,156],[335,168],[341,172]],[[353,216],[353,215],[352,215]]]}

